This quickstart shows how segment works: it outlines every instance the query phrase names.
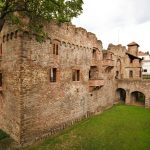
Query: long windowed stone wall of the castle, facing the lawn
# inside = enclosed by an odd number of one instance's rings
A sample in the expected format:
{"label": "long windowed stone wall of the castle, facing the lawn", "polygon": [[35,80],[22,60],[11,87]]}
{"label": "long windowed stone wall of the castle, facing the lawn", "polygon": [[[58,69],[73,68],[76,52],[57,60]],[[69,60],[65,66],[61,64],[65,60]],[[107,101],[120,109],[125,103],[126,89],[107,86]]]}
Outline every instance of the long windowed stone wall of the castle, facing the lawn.
{"label": "long windowed stone wall of the castle, facing the lawn", "polygon": [[[94,34],[73,25],[60,27],[54,23],[47,28],[49,39],[42,44],[28,33],[22,36],[21,143],[33,142],[64,124],[113,105],[113,81],[92,91],[89,87],[91,66],[99,70],[97,80],[104,80],[102,43]],[[53,54],[54,44],[58,44],[58,55]],[[50,82],[50,68],[57,68],[56,82]],[[80,70],[80,81],[72,81],[73,70]]]}

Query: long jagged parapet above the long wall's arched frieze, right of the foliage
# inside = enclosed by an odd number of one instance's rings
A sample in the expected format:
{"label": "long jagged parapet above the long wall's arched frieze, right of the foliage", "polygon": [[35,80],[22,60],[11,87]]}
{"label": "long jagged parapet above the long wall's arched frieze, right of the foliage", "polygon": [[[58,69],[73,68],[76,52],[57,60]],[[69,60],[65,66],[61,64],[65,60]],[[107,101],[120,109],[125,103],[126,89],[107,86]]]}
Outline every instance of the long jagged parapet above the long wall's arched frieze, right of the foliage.
{"label": "long jagged parapet above the long wall's arched frieze, right of the foliage", "polygon": [[46,26],[45,31],[52,39],[55,36],[57,39],[63,39],[75,45],[80,43],[83,46],[88,45],[88,47],[102,47],[102,42],[98,41],[94,33],[88,32],[82,27],[76,27],[71,23],[57,24],[53,21]]}

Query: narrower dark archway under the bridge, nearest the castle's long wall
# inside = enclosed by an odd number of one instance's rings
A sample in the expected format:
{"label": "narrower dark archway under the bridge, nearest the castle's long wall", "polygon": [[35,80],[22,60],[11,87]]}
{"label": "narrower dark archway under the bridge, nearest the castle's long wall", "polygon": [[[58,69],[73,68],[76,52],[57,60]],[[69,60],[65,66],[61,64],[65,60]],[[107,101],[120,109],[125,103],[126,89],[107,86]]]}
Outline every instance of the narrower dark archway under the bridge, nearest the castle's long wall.
{"label": "narrower dark archway under the bridge, nearest the castle's long wall", "polygon": [[116,90],[116,98],[117,98],[117,101],[121,101],[121,102],[124,102],[126,101],[126,91],[122,88],[118,88]]}

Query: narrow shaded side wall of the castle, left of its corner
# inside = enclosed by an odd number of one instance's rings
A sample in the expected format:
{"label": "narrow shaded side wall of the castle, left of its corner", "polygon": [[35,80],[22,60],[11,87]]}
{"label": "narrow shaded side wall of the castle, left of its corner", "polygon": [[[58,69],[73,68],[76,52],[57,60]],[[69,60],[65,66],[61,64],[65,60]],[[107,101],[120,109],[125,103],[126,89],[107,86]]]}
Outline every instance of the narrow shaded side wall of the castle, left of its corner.
{"label": "narrow shaded side wall of the castle, left of its corner", "polygon": [[21,132],[21,49],[17,30],[5,28],[2,37],[0,127],[17,142]]}

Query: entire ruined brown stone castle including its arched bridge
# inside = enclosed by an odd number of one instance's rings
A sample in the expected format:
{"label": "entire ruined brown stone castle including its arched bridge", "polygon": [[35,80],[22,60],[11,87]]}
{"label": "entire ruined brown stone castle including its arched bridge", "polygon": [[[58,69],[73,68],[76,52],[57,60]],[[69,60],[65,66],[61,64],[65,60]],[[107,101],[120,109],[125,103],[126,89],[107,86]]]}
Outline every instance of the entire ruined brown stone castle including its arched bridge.
{"label": "entire ruined brown stone castle including its arched bridge", "polygon": [[127,92],[134,100],[142,95],[132,92],[144,93],[150,107],[137,43],[102,50],[83,28],[54,22],[45,28],[44,43],[14,27],[1,33],[0,127],[17,142],[54,134],[119,100],[131,104]]}

